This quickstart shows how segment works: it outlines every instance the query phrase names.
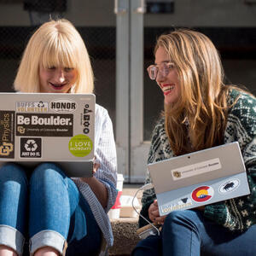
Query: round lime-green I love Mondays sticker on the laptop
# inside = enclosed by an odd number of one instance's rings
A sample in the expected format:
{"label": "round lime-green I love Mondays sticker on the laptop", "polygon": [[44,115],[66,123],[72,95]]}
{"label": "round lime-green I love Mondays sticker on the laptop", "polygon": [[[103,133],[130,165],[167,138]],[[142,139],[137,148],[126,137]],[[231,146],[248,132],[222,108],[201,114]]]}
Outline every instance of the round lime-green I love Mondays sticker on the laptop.
{"label": "round lime-green I love Mondays sticker on the laptop", "polygon": [[72,137],[68,143],[68,149],[71,154],[77,157],[84,157],[87,154],[90,154],[93,145],[90,137],[79,134]]}

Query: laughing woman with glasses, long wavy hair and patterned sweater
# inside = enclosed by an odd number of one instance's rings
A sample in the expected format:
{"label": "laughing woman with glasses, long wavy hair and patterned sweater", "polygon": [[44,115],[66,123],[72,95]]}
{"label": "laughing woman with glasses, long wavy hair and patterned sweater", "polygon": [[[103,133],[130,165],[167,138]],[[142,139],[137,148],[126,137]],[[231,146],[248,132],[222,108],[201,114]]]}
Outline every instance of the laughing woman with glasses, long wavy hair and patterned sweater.
{"label": "laughing woman with glasses, long wavy hair and patterned sweater", "polygon": [[[154,127],[148,164],[237,141],[251,194],[160,216],[154,189],[145,190],[139,226],[160,225],[160,235],[140,241],[132,255],[255,255],[255,97],[224,84],[218,51],[201,32],[161,35],[154,56],[148,75],[163,92],[165,110]],[[145,183],[151,183],[149,172]]]}

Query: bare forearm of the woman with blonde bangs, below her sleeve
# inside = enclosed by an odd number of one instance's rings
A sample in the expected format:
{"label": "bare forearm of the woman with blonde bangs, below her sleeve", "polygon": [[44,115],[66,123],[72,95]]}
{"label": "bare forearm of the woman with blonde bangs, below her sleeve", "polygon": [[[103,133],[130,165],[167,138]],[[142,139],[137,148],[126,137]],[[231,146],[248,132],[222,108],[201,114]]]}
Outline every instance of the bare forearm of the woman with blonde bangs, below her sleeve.
{"label": "bare forearm of the woman with blonde bangs, below her sleeve", "polygon": [[96,177],[81,177],[84,183],[90,186],[90,189],[96,195],[98,201],[102,204],[103,208],[108,205],[108,189]]}

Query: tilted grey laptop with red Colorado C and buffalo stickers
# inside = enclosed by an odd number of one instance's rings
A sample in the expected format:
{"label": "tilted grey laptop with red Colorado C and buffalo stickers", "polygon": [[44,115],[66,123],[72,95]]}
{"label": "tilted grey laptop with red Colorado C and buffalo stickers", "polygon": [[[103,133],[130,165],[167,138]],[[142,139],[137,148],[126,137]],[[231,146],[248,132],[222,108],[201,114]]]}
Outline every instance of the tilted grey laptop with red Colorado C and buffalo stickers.
{"label": "tilted grey laptop with red Colorado C and buffalo stickers", "polygon": [[148,170],[160,216],[250,194],[237,142],[149,164]]}

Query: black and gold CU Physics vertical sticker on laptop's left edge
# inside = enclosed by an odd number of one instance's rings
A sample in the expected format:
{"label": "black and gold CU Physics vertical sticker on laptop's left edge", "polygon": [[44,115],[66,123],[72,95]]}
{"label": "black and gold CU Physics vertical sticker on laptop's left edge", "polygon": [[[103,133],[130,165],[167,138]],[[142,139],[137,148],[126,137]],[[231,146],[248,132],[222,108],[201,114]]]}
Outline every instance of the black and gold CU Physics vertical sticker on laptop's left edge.
{"label": "black and gold CU Physics vertical sticker on laptop's left edge", "polygon": [[0,111],[0,158],[15,158],[15,111]]}

